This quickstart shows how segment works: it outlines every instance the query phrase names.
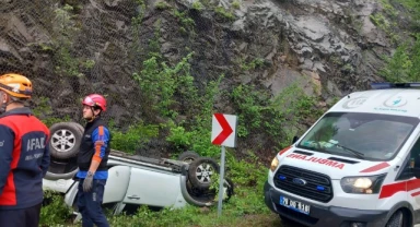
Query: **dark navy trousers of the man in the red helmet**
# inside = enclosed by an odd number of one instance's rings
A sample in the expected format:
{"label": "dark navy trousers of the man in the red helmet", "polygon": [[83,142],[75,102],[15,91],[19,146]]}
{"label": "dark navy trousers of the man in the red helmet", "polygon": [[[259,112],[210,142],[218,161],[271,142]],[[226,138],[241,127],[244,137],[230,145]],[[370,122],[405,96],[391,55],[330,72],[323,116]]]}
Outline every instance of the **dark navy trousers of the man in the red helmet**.
{"label": "dark navy trousers of the man in the red helmet", "polygon": [[82,226],[93,227],[109,227],[105,214],[102,212],[102,201],[104,198],[104,188],[106,180],[93,180],[91,191],[83,191],[84,179],[79,180],[78,206],[82,214]]}

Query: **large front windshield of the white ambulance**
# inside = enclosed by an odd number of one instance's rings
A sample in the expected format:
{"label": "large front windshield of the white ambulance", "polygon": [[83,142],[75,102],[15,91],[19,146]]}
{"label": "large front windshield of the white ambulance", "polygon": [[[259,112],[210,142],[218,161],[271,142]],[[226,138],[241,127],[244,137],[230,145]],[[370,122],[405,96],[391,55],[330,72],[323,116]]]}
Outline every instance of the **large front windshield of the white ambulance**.
{"label": "large front windshield of the white ambulance", "polygon": [[329,112],[298,147],[369,160],[394,157],[419,123],[413,117]]}

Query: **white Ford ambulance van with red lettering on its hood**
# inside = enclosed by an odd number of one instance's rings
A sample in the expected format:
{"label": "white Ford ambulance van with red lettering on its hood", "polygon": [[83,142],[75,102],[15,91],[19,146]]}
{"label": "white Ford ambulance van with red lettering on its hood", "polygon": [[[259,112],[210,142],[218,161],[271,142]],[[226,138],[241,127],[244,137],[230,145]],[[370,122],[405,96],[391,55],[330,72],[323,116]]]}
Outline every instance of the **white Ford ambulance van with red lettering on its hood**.
{"label": "white Ford ambulance van with red lettering on its hood", "polygon": [[265,202],[283,222],[420,224],[420,83],[372,87],[343,97],[273,158]]}

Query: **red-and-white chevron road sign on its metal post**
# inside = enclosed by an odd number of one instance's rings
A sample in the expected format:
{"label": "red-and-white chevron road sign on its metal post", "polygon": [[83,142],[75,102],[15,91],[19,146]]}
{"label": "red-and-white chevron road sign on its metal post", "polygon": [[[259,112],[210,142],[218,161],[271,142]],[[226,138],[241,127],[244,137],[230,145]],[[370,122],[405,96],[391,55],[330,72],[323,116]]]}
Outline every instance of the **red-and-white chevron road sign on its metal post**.
{"label": "red-and-white chevron road sign on its metal post", "polygon": [[222,146],[222,155],[220,162],[220,180],[219,180],[219,203],[218,217],[222,214],[223,201],[223,181],[224,181],[224,146],[236,146],[236,123],[237,117],[233,115],[214,113],[211,129],[211,143]]}

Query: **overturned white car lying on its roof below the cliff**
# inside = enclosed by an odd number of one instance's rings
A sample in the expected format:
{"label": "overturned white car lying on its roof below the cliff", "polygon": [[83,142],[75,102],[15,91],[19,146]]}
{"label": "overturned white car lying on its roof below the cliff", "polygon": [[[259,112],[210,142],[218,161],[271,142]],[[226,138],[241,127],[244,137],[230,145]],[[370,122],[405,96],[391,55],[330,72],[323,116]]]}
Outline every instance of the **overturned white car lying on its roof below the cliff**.
{"label": "overturned white car lying on its roof below the cliff", "polygon": [[[83,127],[75,122],[60,122],[50,127],[51,163],[43,180],[44,190],[65,195],[68,206],[77,211],[78,171],[77,155]],[[211,176],[219,172],[219,165],[211,158],[185,152],[178,160],[148,158],[112,150],[108,157],[108,180],[105,186],[104,205],[114,214],[127,204],[151,207],[211,206],[218,194],[210,189]],[[233,194],[233,183],[224,179],[224,200]]]}

